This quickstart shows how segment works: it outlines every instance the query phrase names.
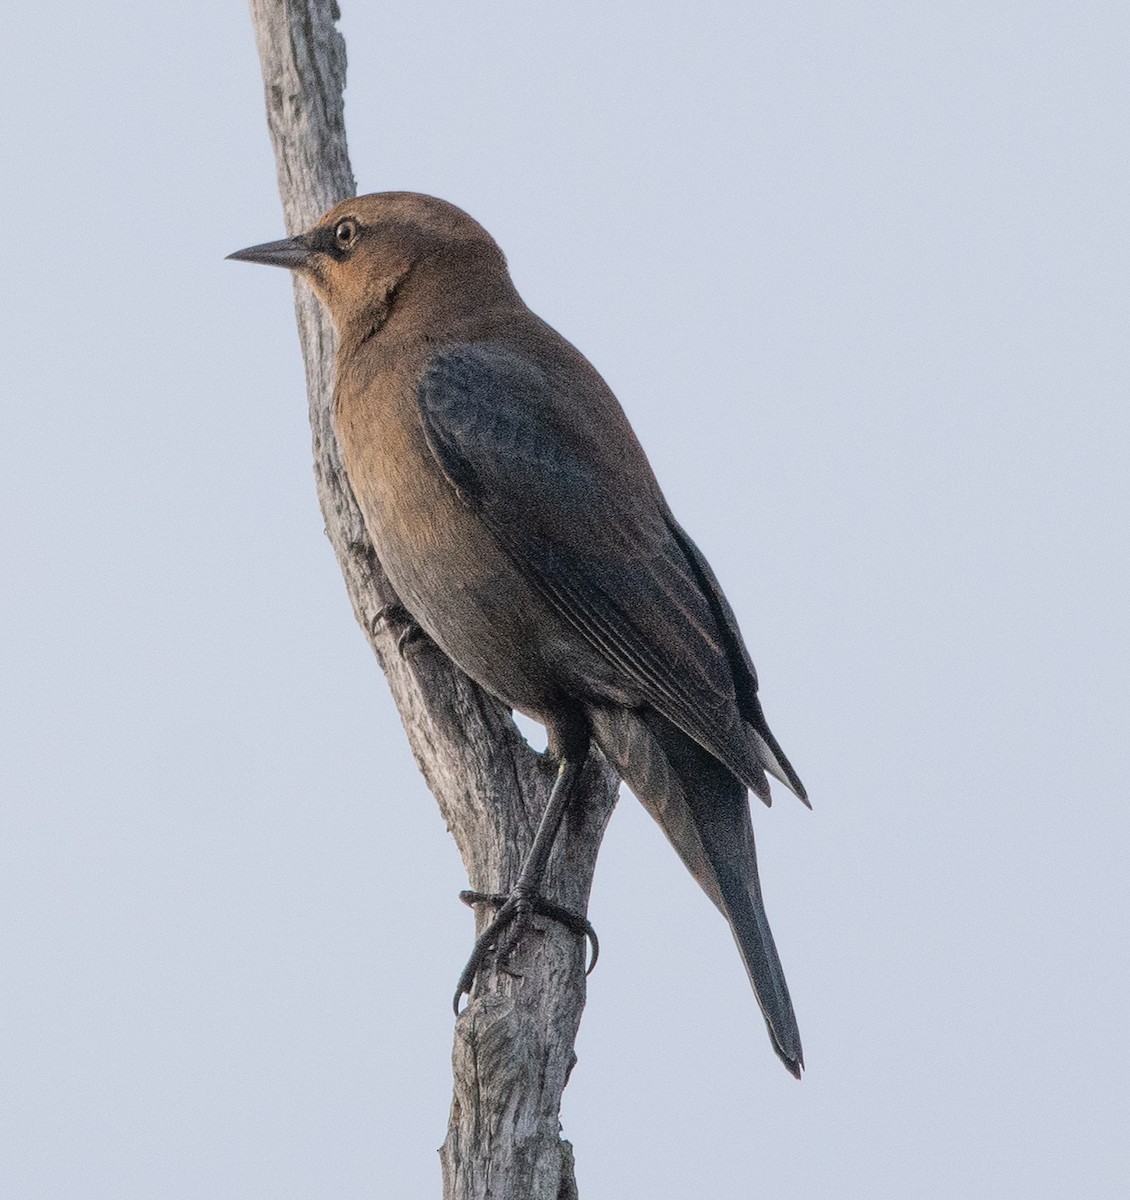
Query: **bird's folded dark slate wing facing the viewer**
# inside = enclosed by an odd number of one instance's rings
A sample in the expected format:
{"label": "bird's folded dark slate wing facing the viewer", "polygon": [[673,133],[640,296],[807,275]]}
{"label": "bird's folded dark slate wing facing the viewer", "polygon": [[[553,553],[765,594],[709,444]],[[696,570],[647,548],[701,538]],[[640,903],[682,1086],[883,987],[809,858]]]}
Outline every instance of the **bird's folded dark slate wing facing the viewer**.
{"label": "bird's folded dark slate wing facing the viewer", "polygon": [[518,569],[642,700],[767,796],[717,605],[635,438],[605,427],[623,416],[595,372],[571,380],[476,343],[437,355],[419,401],[444,474]]}

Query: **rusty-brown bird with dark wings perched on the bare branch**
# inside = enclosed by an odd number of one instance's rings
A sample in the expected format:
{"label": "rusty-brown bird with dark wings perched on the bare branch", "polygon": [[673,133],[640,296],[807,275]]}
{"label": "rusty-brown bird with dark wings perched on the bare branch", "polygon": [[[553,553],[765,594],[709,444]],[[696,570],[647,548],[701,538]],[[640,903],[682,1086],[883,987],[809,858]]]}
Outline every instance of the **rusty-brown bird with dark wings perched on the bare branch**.
{"label": "rusty-brown bird with dark wings perched on the bare branch", "polygon": [[576,925],[541,882],[595,743],[729,923],[799,1079],[749,793],[769,804],[773,775],[807,796],[765,722],[733,608],[608,385],[446,200],[355,197],[306,233],[228,257],[296,271],[329,310],[335,428],[389,581],[456,666],[545,726],[558,764],[456,1008],[512,922],[541,907]]}

